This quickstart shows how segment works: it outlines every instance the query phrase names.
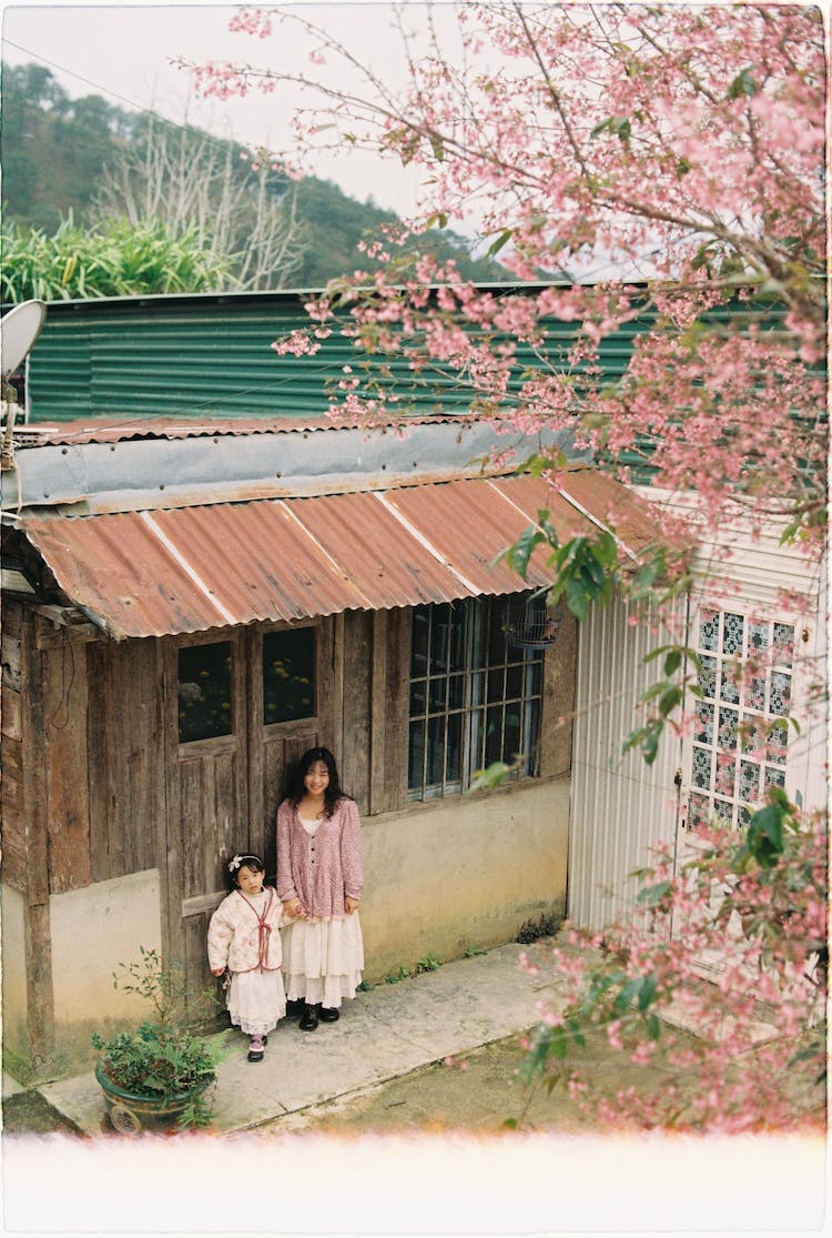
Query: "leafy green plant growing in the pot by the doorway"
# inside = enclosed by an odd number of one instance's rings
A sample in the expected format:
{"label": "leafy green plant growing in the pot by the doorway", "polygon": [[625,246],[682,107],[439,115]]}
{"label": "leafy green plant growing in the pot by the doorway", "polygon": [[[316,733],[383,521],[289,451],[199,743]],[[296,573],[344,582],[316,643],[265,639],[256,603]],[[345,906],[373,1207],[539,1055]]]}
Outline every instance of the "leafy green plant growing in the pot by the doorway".
{"label": "leafy green plant growing in the pot by the doorway", "polygon": [[193,1092],[179,1124],[205,1127],[211,1113],[203,1092],[214,1078],[220,1055],[182,1021],[180,968],[164,967],[155,950],[142,946],[140,951],[141,959],[120,964],[125,974],[114,974],[112,983],[114,988],[148,1002],[153,1016],[143,1019],[134,1031],[120,1031],[110,1039],[95,1032],[93,1046],[103,1054],[108,1078],[125,1092],[162,1103]]}

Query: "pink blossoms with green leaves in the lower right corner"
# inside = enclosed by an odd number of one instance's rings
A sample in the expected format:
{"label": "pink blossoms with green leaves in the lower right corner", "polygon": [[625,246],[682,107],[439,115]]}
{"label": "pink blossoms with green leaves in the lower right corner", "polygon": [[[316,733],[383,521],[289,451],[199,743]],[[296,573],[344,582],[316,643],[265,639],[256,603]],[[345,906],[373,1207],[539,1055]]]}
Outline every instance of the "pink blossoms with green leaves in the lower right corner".
{"label": "pink blossoms with green leaves in the lower right corner", "polygon": [[[703,846],[682,865],[676,879],[668,875],[666,853],[660,858],[659,868],[638,869],[630,874],[640,883],[637,904],[645,910],[645,922],[652,928],[639,933],[632,925],[623,930],[612,927],[600,943],[597,940],[591,942],[588,932],[570,933],[572,946],[580,953],[565,962],[562,971],[571,974],[580,958],[580,980],[558,1016],[540,1023],[532,1032],[520,1063],[527,1086],[543,1083],[553,1088],[577,1082],[584,1092],[588,1087],[601,1098],[606,1094],[605,1081],[591,1080],[590,1067],[586,1062],[581,1065],[582,1060],[576,1054],[577,1049],[586,1046],[591,1032],[600,1032],[628,1055],[637,1046],[656,1049],[661,1042],[669,1056],[664,1058],[655,1094],[650,1096],[654,1084],[645,1080],[643,1092],[639,1092],[640,1108],[637,1106],[633,1112],[638,1112],[647,1124],[659,1120],[659,1115],[668,1125],[701,1122],[701,1117],[691,1114],[706,1112],[711,1102],[703,1099],[696,1077],[687,1077],[687,1083],[684,1083],[684,1072],[691,1063],[697,1063],[701,1071],[698,1077],[707,1078],[708,1087],[716,1088],[721,1081],[720,1087],[727,1087],[726,1094],[733,1096],[737,1077],[732,1070],[737,1055],[745,1055],[743,1070],[754,1068],[750,1058],[754,1050],[753,1020],[766,1018],[763,1013],[757,1014],[752,1004],[757,994],[757,967],[770,968],[779,978],[769,987],[766,1002],[773,1000],[771,993],[776,994],[781,985],[790,983],[787,977],[791,972],[802,973],[805,982],[811,980],[818,1003],[822,1002],[828,948],[825,917],[816,911],[825,907],[825,834],[815,834],[807,828],[783,789],[773,786],[769,787],[768,803],[753,813],[745,831],[722,829],[703,839]],[[697,909],[697,915],[695,926],[689,928],[686,917],[694,915],[691,907]],[[675,936],[671,936],[666,926],[676,916],[679,925]],[[729,927],[737,925],[739,937],[737,928]],[[736,959],[757,959],[754,967],[748,962],[744,964],[748,976],[738,985],[737,994],[729,988],[703,983],[698,969],[702,952],[732,941],[749,946],[747,954],[741,945],[734,956],[736,984],[743,977],[743,968],[737,966]],[[555,951],[555,954],[561,954],[564,959],[567,957],[566,951]],[[817,961],[813,979],[809,969],[812,957]],[[674,1010],[685,990],[691,1000],[682,1002],[682,1008],[692,1019],[692,1036],[686,1039],[680,1058],[675,1058],[679,1036],[674,1028]],[[799,1113],[802,1104],[822,1107],[826,1025],[823,1015],[813,1009],[811,985],[800,999],[795,998],[795,992],[792,987],[783,998],[791,1030],[786,1036],[779,1035],[764,1042],[766,1052],[774,1051],[771,1046],[780,1046],[776,1052],[784,1086],[787,1087],[790,1080],[794,1082],[794,1070],[801,1063],[805,1067],[800,1073],[801,1078],[809,1080],[809,1088],[805,1094],[800,1089],[794,1094],[794,1103],[799,1107],[795,1112]],[[802,1003],[799,1008],[799,1032],[795,1032],[792,1023],[797,1010],[795,1000]],[[698,1011],[696,1015],[695,1010]],[[670,1015],[669,1020],[666,1015]],[[776,1025],[775,1008],[769,1016]],[[713,1028],[722,1028],[723,1021],[723,1030],[733,1028],[733,1036],[739,1035],[743,1024],[742,1036],[737,1040],[741,1047],[728,1051],[720,1036],[712,1036]],[[642,1062],[649,1060],[649,1054],[642,1057]],[[758,1068],[763,1075],[770,1071],[769,1057],[763,1057]],[[749,1075],[749,1078],[754,1077]],[[753,1094],[753,1082],[749,1088]],[[622,1102],[623,1093],[616,1096]],[[609,1103],[609,1097],[605,1103]],[[698,1109],[696,1104],[700,1104]],[[609,1112],[608,1108],[607,1114]],[[718,1108],[712,1118],[720,1119]],[[759,1122],[765,1120],[763,1106]]]}

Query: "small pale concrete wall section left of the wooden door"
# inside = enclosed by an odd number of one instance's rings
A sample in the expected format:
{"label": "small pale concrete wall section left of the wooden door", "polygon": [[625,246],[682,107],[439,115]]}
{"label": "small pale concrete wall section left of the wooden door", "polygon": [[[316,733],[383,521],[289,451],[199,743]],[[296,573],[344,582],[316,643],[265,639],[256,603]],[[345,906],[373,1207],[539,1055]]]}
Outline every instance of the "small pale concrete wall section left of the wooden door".
{"label": "small pale concrete wall section left of the wooden door", "polygon": [[54,1034],[64,1052],[90,1051],[93,1031],[150,1013],[145,1002],[114,988],[112,974],[140,959],[140,946],[161,950],[159,910],[157,869],[51,896]]}

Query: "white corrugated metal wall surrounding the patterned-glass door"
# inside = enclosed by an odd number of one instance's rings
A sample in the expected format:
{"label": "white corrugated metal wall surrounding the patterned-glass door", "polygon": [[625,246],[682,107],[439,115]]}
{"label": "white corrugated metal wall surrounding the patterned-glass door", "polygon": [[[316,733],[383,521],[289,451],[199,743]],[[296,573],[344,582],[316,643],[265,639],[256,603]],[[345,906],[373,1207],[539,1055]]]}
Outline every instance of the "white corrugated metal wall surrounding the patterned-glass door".
{"label": "white corrugated metal wall surrounding the patterned-glass door", "polygon": [[[644,496],[689,513],[695,506],[691,496],[656,490]],[[826,678],[826,565],[780,546],[778,529],[754,536],[738,515],[718,539],[702,542],[694,569],[691,612],[707,602],[796,624],[792,713],[801,730],[789,740],[786,791],[799,805],[825,806],[826,693],[810,685]],[[627,874],[649,860],[650,846],[659,838],[676,843],[674,775],[682,769],[682,745],[666,735],[653,766],[638,753],[621,758],[624,737],[638,724],[638,697],[660,677],[661,659],[645,667],[644,655],[665,643],[660,633],[629,626],[629,618],[617,600],[606,612],[593,609],[579,629],[567,914],[592,928],[626,917],[637,889]],[[682,796],[686,791],[684,781]]]}

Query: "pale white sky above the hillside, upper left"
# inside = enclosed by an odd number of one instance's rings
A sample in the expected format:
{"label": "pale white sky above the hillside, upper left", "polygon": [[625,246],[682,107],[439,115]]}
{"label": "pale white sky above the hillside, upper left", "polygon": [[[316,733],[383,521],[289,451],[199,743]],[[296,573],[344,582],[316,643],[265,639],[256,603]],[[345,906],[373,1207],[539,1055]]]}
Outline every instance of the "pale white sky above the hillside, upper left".
{"label": "pale white sky above the hillside, upper left", "polygon": [[[383,2],[330,0],[297,5],[319,24],[342,35],[351,46],[389,76],[396,73],[399,45],[389,27],[389,7]],[[413,4],[414,19],[418,4]],[[173,121],[185,115],[221,137],[241,145],[281,145],[283,105],[276,97],[253,94],[221,103],[195,98],[188,74],[171,59],[235,61],[274,64],[307,56],[282,33],[258,40],[229,33],[230,5],[178,4],[10,4],[2,9],[2,58],[9,64],[35,62],[48,68],[72,98],[100,94],[127,108],[152,108]],[[450,10],[449,10],[450,16]],[[368,197],[381,207],[407,214],[414,206],[417,173],[392,160],[351,151],[342,157],[321,157],[319,176],[335,181],[361,202]]]}

